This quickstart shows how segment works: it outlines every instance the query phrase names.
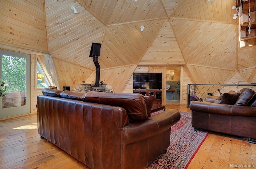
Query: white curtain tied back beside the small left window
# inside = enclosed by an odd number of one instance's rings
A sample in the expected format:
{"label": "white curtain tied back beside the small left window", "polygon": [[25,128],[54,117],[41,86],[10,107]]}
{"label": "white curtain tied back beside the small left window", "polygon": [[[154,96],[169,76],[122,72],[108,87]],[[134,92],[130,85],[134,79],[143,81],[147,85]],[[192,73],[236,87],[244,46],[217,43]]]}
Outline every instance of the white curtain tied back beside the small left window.
{"label": "white curtain tied back beside the small left window", "polygon": [[53,61],[52,61],[52,55],[45,54],[44,55],[44,60],[45,60],[46,71],[47,71],[48,75],[50,76],[51,81],[53,83],[51,85],[57,87],[58,90],[60,90],[57,73],[55,71],[55,67],[54,67],[54,64],[53,64]]}

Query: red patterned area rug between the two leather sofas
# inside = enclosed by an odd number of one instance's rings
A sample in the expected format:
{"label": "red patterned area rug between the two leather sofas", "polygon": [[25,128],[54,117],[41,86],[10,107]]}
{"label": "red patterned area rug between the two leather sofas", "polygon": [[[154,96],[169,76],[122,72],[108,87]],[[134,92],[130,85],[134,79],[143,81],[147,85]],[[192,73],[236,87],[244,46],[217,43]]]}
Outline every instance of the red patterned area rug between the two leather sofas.
{"label": "red patterned area rug between the two leather sofas", "polygon": [[[158,114],[152,113],[152,116]],[[191,126],[191,113],[180,111],[180,121],[171,128],[170,146],[167,151],[156,158],[147,169],[186,169],[199,147],[202,145],[207,132],[194,131]]]}

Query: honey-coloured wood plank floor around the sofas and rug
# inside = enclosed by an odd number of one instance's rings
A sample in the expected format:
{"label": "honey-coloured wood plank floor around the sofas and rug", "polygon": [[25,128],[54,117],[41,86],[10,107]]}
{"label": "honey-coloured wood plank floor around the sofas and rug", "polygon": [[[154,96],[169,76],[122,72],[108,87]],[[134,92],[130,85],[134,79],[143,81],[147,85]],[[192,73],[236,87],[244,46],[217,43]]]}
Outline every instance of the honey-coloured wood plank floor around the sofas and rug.
{"label": "honey-coloured wood plank floor around the sofas and rug", "polygon": [[[166,105],[190,112],[186,105]],[[239,166],[243,165],[243,166]],[[210,133],[188,169],[254,168],[256,144],[246,139]],[[0,169],[84,169],[80,163],[37,133],[36,114],[0,120]]]}

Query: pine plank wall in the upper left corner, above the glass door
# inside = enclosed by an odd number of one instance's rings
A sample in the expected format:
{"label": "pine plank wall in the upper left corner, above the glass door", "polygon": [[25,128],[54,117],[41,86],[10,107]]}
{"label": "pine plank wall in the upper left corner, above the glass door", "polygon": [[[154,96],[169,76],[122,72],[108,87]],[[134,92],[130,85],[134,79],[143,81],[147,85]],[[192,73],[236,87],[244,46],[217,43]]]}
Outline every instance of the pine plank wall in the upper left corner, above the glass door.
{"label": "pine plank wall in the upper left corner, above the glass door", "polygon": [[44,1],[0,1],[0,47],[47,53]]}

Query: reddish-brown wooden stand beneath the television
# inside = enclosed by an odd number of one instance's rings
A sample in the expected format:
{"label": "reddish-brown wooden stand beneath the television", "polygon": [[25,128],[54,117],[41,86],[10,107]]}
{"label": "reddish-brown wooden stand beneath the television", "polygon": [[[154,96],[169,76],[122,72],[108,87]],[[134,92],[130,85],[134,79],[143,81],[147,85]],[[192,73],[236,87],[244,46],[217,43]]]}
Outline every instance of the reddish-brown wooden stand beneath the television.
{"label": "reddish-brown wooden stand beneath the television", "polygon": [[133,93],[140,93],[143,96],[156,96],[156,100],[154,104],[162,105],[162,90],[154,90],[154,89],[136,89],[133,90]]}

